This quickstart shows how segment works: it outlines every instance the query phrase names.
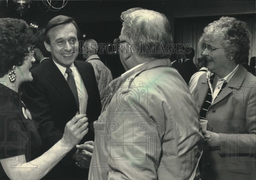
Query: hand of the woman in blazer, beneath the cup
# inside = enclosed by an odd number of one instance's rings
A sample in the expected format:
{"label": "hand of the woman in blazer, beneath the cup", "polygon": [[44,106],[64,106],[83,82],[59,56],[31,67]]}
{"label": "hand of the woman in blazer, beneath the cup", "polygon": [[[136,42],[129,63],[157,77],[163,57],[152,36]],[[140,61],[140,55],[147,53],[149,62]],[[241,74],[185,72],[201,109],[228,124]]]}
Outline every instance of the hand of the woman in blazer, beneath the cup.
{"label": "hand of the woman in blazer, beneath the cup", "polygon": [[212,148],[220,147],[220,135],[219,134],[217,134],[215,132],[211,132],[211,131],[206,131],[206,130],[203,130],[202,134],[205,138],[204,145],[210,146]]}

